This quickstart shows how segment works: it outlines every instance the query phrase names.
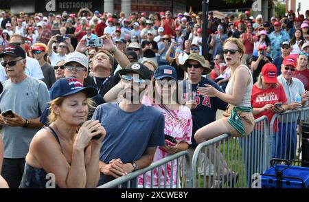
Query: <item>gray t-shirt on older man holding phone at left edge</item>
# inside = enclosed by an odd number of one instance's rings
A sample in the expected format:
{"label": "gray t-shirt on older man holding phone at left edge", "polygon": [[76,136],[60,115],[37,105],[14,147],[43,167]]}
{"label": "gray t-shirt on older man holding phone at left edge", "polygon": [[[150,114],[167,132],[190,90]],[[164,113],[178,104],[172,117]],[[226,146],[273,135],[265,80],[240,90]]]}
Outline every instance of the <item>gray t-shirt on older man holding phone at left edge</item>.
{"label": "gray t-shirt on older man holding phone at left edge", "polygon": [[[3,82],[0,95],[0,110],[12,109],[24,119],[39,117],[49,102],[49,93],[45,83],[27,76],[25,80],[14,83],[10,79]],[[3,126],[4,157],[24,158],[29,150],[32,137],[39,128]]]}

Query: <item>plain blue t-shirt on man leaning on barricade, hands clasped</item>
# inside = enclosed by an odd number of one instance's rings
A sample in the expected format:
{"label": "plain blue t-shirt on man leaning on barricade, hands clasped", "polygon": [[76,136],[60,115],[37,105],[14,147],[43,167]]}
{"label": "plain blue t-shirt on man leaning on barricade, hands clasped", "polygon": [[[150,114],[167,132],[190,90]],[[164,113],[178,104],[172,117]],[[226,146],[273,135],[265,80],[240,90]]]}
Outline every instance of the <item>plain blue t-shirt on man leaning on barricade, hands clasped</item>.
{"label": "plain blue t-shirt on man leaning on barricade, hands clasped", "polygon": [[[144,104],[128,113],[118,103],[105,103],[95,109],[93,120],[99,120],[106,130],[102,142],[100,161],[122,159],[124,164],[141,158],[148,147],[164,146],[164,115]],[[101,173],[99,185],[113,180]]]}

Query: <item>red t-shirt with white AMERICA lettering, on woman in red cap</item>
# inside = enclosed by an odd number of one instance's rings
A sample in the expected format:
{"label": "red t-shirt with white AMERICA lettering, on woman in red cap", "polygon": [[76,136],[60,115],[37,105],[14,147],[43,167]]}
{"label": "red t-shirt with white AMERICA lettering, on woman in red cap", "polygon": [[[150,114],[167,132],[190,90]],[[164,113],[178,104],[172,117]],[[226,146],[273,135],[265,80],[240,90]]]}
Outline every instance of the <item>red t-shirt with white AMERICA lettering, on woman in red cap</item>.
{"label": "red t-shirt with white AMERICA lettering, on woman in red cap", "polygon": [[[282,84],[279,84],[277,88],[259,89],[256,85],[253,85],[251,92],[251,104],[253,108],[261,108],[266,104],[275,104],[276,102],[286,102],[286,93]],[[264,111],[257,115],[254,115],[254,119],[266,115],[269,124],[275,113],[271,110]],[[275,126],[276,124],[274,124]]]}

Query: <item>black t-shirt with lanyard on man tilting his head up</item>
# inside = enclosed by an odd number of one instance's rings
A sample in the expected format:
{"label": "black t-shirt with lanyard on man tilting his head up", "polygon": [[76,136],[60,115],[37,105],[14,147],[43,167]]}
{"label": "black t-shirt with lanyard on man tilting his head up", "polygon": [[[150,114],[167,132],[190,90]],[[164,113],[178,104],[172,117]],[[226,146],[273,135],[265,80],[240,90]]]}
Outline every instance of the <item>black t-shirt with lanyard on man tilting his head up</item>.
{"label": "black t-shirt with lanyard on man tilting his head up", "polygon": [[91,77],[86,81],[85,86],[95,87],[98,90],[98,93],[104,97],[104,95],[111,90],[117,83],[120,81],[120,76],[117,74],[111,77]]}

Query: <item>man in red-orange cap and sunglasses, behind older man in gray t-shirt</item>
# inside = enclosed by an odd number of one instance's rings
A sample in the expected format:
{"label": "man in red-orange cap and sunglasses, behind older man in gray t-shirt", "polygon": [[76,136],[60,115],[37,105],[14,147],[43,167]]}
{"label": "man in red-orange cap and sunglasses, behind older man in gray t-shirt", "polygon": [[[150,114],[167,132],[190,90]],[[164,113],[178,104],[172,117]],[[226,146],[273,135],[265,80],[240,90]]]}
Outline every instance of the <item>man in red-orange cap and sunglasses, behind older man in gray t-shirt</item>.
{"label": "man in red-orange cap and sunglasses, behind older man in gray t-shirt", "polygon": [[50,89],[54,82],[56,82],[55,72],[52,65],[46,63],[44,56],[47,52],[47,46],[44,43],[34,43],[32,47],[32,54],[41,66],[43,71],[43,82],[45,82],[47,89]]}

